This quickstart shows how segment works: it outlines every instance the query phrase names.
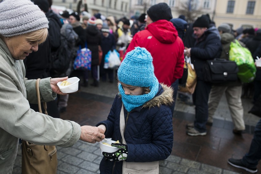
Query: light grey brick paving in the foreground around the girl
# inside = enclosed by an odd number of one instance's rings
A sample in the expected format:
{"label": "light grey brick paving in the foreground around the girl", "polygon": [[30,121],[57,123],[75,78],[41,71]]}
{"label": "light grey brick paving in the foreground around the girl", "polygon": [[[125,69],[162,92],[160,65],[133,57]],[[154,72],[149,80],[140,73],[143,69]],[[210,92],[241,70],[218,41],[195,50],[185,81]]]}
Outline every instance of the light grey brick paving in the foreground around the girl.
{"label": "light grey brick paving in the foreground around the girl", "polygon": [[[99,143],[78,141],[70,148],[57,146],[57,174],[97,174],[102,159]],[[90,152],[90,149],[93,151]],[[160,174],[237,174],[222,168],[170,155],[160,161]],[[21,148],[19,147],[13,174],[21,174]]]}

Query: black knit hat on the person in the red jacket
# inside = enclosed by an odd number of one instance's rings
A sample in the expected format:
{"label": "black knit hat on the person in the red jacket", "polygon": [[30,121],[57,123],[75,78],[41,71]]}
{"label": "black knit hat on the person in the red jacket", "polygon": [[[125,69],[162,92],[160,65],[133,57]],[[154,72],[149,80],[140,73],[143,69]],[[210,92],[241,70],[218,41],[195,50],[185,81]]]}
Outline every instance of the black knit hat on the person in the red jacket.
{"label": "black knit hat on the person in the red jacket", "polygon": [[167,21],[172,19],[171,9],[165,2],[151,6],[147,10],[147,14],[153,22],[161,19],[165,19]]}

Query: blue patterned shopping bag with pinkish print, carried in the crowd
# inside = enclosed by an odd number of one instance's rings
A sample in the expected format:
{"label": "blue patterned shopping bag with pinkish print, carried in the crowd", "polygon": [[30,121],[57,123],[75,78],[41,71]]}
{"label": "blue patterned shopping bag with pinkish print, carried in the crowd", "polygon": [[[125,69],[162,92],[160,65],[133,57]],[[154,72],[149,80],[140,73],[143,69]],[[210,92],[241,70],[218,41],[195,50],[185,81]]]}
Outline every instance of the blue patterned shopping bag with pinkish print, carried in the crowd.
{"label": "blue patterned shopping bag with pinkish print, carried in the crowd", "polygon": [[74,59],[74,70],[91,70],[92,65],[92,51],[88,49],[87,42],[85,42],[85,48],[77,51],[77,56]]}

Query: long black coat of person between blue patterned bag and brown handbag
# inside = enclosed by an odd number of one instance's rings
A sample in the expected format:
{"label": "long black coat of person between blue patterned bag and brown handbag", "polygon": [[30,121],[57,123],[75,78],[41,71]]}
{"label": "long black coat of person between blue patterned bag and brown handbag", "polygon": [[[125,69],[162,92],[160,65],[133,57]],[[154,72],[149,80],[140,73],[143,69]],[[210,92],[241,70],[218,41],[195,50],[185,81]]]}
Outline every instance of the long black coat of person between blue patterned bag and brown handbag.
{"label": "long black coat of person between blue patterned bag and brown handbag", "polygon": [[86,28],[87,47],[92,51],[92,65],[99,65],[98,45],[101,44],[101,34],[95,25]]}

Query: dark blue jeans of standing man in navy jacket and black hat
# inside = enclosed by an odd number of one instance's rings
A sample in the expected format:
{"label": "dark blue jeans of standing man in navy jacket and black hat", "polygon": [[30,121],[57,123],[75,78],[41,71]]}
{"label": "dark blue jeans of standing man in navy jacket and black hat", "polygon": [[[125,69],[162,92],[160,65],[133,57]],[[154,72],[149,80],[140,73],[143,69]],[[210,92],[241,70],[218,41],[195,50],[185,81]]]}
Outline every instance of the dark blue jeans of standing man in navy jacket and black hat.
{"label": "dark blue jeans of standing man in navy jacket and black hat", "polygon": [[211,83],[198,80],[195,92],[192,95],[195,104],[194,127],[199,132],[206,132],[208,118],[208,97],[211,90]]}

